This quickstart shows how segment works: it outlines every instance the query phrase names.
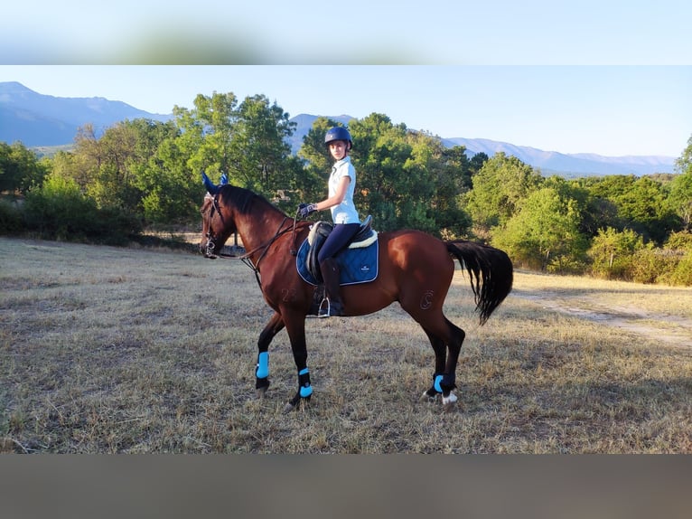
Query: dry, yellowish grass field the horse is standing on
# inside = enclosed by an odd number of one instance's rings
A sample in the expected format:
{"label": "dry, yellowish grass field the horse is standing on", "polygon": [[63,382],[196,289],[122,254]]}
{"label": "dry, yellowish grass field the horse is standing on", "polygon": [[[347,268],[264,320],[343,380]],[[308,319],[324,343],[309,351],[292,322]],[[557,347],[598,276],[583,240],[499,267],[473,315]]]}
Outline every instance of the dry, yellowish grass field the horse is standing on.
{"label": "dry, yellowish grass field the horse is standing on", "polygon": [[0,452],[692,453],[692,289],[517,272],[478,326],[457,270],[445,311],[453,412],[419,401],[433,352],[393,305],[309,320],[313,401],[282,414],[288,337],[256,400],[271,311],[237,259],[0,238]]}

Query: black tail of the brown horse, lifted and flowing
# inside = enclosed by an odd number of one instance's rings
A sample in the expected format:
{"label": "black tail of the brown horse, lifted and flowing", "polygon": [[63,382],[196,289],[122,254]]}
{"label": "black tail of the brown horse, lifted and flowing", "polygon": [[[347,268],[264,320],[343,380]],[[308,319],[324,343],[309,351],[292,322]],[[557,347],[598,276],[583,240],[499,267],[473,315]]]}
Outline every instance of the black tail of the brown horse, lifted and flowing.
{"label": "black tail of the brown horse, lifted and flowing", "polygon": [[447,250],[465,267],[471,278],[476,310],[484,325],[495,308],[510,293],[514,271],[504,250],[473,241],[445,241]]}

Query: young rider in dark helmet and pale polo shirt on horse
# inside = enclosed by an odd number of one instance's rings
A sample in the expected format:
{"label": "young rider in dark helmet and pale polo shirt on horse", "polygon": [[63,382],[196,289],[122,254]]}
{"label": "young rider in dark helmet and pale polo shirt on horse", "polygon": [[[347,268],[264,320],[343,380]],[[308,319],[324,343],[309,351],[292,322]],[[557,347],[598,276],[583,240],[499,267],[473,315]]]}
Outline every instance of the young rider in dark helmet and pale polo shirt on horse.
{"label": "young rider in dark helmet and pale polo shirt on horse", "polygon": [[360,218],[353,203],[356,188],[356,170],[351,164],[349,152],[353,140],[345,127],[332,127],[324,136],[324,144],[336,161],[329,176],[329,197],[318,203],[301,203],[298,210],[302,218],[315,211],[332,212],[334,229],[324,241],[317,256],[324,279],[324,289],[329,304],[320,307],[320,317],[342,316],[343,304],[339,288],[339,266],[334,259],[360,229]]}

